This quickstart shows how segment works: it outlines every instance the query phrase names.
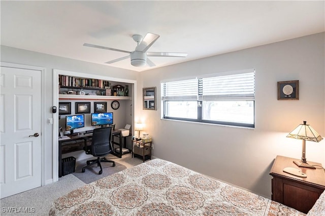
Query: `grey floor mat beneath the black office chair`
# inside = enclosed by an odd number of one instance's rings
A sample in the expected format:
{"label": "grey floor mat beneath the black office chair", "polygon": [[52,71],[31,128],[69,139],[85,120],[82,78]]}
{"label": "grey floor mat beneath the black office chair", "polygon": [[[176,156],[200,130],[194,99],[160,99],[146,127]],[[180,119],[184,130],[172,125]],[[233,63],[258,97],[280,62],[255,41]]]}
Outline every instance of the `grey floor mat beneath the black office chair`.
{"label": "grey floor mat beneath the black office chair", "polygon": [[113,163],[102,162],[101,164],[102,164],[102,168],[103,168],[103,173],[101,175],[98,174],[98,172],[100,171],[100,167],[97,166],[97,164],[93,164],[92,166],[86,168],[85,172],[81,172],[82,167],[87,165],[87,163],[86,163],[87,160],[89,160],[89,158],[85,159],[85,160],[78,161],[76,170],[75,170],[75,172],[73,172],[73,175],[75,177],[77,177],[78,179],[80,179],[81,181],[83,181],[86,184],[92,183],[96,180],[99,180],[99,179],[102,179],[109,175],[112,175],[115,172],[119,172],[119,171],[126,169],[126,166],[124,166],[120,163],[117,163],[117,162],[115,162],[115,166],[112,166]]}

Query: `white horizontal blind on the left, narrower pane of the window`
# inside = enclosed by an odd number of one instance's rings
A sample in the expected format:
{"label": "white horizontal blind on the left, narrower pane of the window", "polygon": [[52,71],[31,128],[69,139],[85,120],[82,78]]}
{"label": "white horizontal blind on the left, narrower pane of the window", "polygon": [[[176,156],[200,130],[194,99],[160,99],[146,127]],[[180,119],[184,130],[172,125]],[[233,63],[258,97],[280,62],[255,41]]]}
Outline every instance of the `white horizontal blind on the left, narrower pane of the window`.
{"label": "white horizontal blind on the left, narrower pane of the window", "polygon": [[161,83],[161,100],[163,101],[197,101],[198,79]]}

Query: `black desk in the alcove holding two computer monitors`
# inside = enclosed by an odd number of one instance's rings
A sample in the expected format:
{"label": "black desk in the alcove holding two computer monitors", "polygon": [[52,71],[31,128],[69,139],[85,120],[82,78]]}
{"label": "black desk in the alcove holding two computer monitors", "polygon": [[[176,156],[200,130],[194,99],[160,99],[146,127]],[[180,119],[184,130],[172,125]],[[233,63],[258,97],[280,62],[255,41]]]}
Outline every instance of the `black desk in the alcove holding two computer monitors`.
{"label": "black desk in the alcove holding two computer monitors", "polygon": [[[115,129],[113,132],[112,132],[112,135],[114,136],[114,135],[121,135],[121,131],[120,130],[118,130],[118,129]],[[59,145],[59,155],[58,155],[58,166],[59,166],[59,178],[60,177],[62,177],[62,144],[63,143],[68,143],[68,142],[73,142],[73,141],[77,141],[77,140],[83,140],[84,141],[84,145],[87,145],[87,141],[89,140],[89,139],[91,139],[92,138],[92,134],[84,134],[84,132],[79,132],[78,134],[76,134],[76,135],[73,135],[73,136],[71,136],[71,135],[66,135],[66,136],[68,136],[70,139],[65,139],[65,140],[58,140],[58,145]],[[121,137],[121,136],[120,136]],[[112,138],[113,139],[113,138]],[[116,144],[116,145],[119,145],[120,146],[120,148],[122,148],[121,147],[121,139],[122,138],[120,138],[119,139],[119,143],[116,143],[116,142],[114,142],[113,140],[112,140],[112,144],[114,145],[114,144]]]}

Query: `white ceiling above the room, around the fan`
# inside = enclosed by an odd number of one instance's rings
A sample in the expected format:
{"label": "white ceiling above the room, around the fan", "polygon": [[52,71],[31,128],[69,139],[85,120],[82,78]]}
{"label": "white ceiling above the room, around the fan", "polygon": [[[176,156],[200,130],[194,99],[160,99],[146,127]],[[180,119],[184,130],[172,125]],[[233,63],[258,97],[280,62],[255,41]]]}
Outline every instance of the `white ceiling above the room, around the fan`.
{"label": "white ceiling above the room, around the fan", "polygon": [[1,45],[98,64],[128,54],[84,43],[134,51],[133,34],[156,33],[148,52],[188,53],[150,57],[163,67],[323,32],[324,23],[324,1],[1,1]]}

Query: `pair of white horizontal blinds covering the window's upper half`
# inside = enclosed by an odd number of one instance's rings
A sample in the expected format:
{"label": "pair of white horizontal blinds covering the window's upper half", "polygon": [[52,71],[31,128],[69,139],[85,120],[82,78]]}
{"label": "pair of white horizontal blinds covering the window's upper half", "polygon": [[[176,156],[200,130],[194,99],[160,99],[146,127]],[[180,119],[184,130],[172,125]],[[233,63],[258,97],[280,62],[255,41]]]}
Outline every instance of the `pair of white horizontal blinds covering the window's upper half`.
{"label": "pair of white horizontal blinds covering the window's upper half", "polygon": [[255,72],[161,83],[163,101],[254,100]]}

